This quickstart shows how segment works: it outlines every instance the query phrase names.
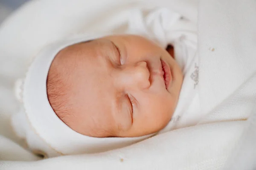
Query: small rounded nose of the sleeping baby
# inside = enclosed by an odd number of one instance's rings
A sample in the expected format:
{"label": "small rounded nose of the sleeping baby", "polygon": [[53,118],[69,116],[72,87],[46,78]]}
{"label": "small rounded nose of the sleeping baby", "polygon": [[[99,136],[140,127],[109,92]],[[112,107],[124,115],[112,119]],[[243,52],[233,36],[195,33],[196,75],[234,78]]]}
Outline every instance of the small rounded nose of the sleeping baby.
{"label": "small rounded nose of the sleeping baby", "polygon": [[125,88],[146,89],[150,87],[150,73],[147,63],[144,61],[128,65],[120,71],[120,79]]}

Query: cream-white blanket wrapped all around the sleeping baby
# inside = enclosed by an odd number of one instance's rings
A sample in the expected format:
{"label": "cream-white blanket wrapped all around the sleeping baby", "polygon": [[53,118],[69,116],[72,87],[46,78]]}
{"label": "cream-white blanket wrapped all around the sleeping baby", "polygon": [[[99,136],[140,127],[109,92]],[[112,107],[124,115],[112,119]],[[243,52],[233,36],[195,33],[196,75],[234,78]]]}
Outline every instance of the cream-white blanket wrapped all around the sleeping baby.
{"label": "cream-white blanket wrapped all around the sleeping baby", "polygon": [[[198,19],[199,96],[202,111],[207,113],[200,124],[106,153],[35,161],[38,158],[14,143],[19,141],[9,126],[9,115],[17,111],[11,88],[14,80],[23,75],[29,58],[44,44],[78,32],[112,28],[121,32],[118,26],[125,23],[128,11],[141,5],[136,0],[95,0],[90,4],[84,0],[32,1],[0,27],[1,170],[252,169],[256,154],[247,151],[255,149],[253,124],[249,124],[253,117],[245,120],[256,114],[256,1],[201,0],[199,7],[197,0],[147,4],[148,8],[165,6],[195,22]],[[240,138],[244,140],[238,145],[241,152],[234,152]],[[236,155],[248,153],[247,163],[237,164],[245,159]]]}

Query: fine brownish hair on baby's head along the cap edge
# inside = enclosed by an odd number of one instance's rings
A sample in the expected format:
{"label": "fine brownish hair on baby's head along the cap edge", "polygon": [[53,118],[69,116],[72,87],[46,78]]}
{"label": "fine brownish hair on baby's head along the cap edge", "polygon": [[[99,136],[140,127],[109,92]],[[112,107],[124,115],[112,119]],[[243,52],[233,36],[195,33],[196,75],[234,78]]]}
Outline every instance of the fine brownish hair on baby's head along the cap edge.
{"label": "fine brownish hair on baby's head along the cap edge", "polygon": [[[92,40],[80,43],[90,41]],[[64,119],[73,115],[72,105],[67,101],[67,92],[70,88],[70,84],[67,83],[67,77],[70,76],[70,70],[69,67],[64,65],[64,63],[67,62],[67,57],[72,57],[74,55],[73,51],[70,50],[73,46],[74,45],[68,46],[58,52],[52,61],[47,76],[47,97],[49,103],[52,106],[53,111],[63,122],[65,122]],[[76,53],[79,53],[79,51],[76,51]]]}

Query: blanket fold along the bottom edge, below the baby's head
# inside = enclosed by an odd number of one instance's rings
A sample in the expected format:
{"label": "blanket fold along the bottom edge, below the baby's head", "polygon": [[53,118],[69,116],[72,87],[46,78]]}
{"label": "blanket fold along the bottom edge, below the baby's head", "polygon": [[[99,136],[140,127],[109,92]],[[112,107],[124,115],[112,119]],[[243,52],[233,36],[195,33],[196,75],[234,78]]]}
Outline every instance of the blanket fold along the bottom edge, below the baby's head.
{"label": "blanket fold along the bottom edge, below the baby's head", "polygon": [[1,169],[216,170],[223,167],[227,159],[225,153],[233,149],[233,141],[239,138],[243,125],[244,122],[224,122],[183,128],[101,154],[34,162],[2,161]]}

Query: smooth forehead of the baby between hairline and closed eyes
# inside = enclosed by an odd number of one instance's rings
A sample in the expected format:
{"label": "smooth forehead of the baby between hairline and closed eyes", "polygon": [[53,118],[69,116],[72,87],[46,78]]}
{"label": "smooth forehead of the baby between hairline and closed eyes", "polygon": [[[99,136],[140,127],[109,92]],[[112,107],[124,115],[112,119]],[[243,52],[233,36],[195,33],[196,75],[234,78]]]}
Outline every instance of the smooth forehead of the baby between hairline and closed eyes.
{"label": "smooth forehead of the baby between hairline and closed eyes", "polygon": [[67,93],[74,106],[74,116],[84,125],[112,129],[116,101],[103,46],[106,43],[91,41],[72,45],[64,51],[65,69],[69,72],[66,81],[70,84]]}

